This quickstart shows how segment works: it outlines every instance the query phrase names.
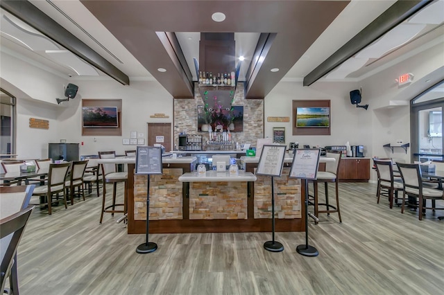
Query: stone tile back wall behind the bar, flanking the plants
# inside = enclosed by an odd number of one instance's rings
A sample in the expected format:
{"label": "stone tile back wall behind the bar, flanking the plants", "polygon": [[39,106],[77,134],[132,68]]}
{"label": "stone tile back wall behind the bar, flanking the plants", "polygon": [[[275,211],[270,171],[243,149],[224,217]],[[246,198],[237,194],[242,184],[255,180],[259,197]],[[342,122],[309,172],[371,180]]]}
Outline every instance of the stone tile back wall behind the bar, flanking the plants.
{"label": "stone tile back wall behind the bar, flanking the plants", "polygon": [[[198,84],[194,84],[194,99],[174,99],[174,143],[178,144],[179,133],[187,130],[188,134],[197,134],[197,106],[203,105],[198,91]],[[264,138],[264,100],[245,99],[244,83],[237,83],[233,105],[244,106],[244,132],[231,134],[234,142],[246,141],[256,145],[257,138]],[[201,133],[201,132],[199,132]],[[208,136],[203,137],[206,142]]]}

